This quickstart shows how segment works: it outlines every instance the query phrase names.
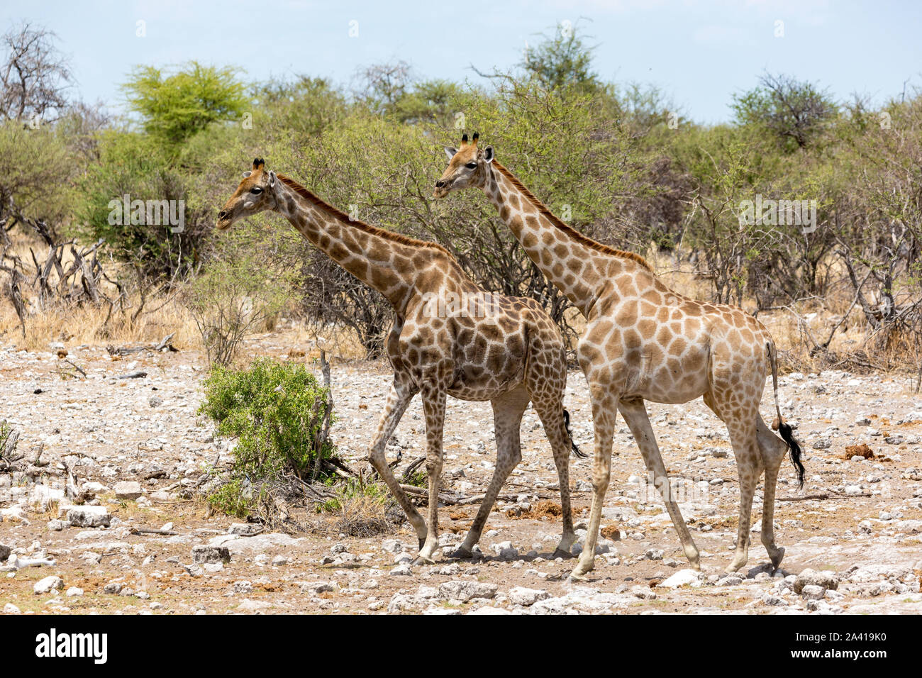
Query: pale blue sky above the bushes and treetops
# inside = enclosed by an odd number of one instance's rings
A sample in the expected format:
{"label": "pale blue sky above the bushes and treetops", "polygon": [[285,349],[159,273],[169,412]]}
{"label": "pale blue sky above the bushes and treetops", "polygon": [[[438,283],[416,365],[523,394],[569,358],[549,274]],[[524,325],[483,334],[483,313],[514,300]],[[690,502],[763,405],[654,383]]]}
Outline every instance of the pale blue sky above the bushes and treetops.
{"label": "pale blue sky above the bushes and treetops", "polygon": [[922,3],[911,0],[3,0],[0,18],[57,33],[79,96],[114,111],[132,66],[192,59],[240,66],[248,79],[303,74],[349,86],[362,66],[404,60],[418,77],[480,81],[470,65],[511,68],[561,21],[591,36],[599,77],[656,85],[702,123],[726,121],[732,95],[765,70],[839,100],[860,92],[881,103],[905,80],[922,85]]}

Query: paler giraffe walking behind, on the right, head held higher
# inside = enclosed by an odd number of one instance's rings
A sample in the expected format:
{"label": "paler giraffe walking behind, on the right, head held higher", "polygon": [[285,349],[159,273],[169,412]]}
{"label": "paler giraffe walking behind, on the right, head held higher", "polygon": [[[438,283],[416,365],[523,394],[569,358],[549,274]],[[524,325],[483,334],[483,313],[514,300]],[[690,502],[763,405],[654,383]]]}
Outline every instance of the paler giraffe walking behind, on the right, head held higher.
{"label": "paler giraffe walking behind, on the right, head held higher", "polygon": [[[680,404],[699,396],[727,425],[739,473],[736,553],[727,572],[749,558],[752,497],[765,472],[762,544],[776,569],[785,550],[774,543],[774,492],[786,450],[803,486],[800,446],[778,406],[774,341],[742,309],[705,303],[668,289],[644,257],[597,243],[558,219],[516,179],[479,135],[461,137],[459,149],[445,148],[450,161],[436,182],[439,198],[468,186],[481,189],[522,244],[526,254],[585,316],[577,357],[592,401],[595,428],[593,497],[585,548],[573,579],[593,569],[602,503],[609,486],[611,446],[617,412],[627,422],[649,474],[662,495],[692,567],[701,569],[698,549],[669,490],[668,476],[644,400]],[[772,371],[777,418],[769,431],[759,413]]]}

